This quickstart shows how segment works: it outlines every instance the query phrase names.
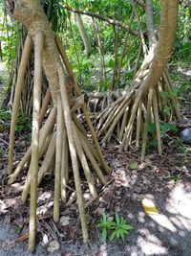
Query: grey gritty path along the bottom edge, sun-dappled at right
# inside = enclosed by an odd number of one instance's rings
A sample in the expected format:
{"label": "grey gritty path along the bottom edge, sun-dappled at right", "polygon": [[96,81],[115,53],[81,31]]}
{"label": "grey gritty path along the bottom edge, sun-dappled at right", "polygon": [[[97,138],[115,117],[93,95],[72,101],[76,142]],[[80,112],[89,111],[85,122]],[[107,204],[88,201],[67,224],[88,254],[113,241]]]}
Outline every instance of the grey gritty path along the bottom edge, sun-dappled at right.
{"label": "grey gritty path along the bottom edge, sun-dappled at right", "polygon": [[[96,239],[89,248],[72,242],[61,243],[59,251],[49,255],[190,256],[191,193],[187,185],[179,182],[168,198],[164,191],[155,194],[161,212],[159,216],[146,216],[137,200],[129,200],[123,212],[135,229],[124,243],[103,243]],[[30,255],[26,243],[11,244],[16,236],[13,227],[1,220],[0,255]],[[47,255],[46,248],[38,244],[33,255]]]}

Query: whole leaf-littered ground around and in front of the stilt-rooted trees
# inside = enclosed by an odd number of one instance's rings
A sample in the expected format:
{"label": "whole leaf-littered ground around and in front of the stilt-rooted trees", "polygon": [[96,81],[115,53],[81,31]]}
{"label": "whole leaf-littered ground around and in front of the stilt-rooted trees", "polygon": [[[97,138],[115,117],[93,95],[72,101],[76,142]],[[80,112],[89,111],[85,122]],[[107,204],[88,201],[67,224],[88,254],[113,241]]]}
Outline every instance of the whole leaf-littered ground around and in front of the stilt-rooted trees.
{"label": "whole leaf-littered ground around and in front of the stilt-rooted trees", "polygon": [[[176,71],[177,72],[177,71]],[[187,72],[187,71],[186,71]],[[181,77],[182,76],[182,77]],[[189,81],[191,74],[180,70],[180,78]],[[183,98],[181,115],[191,120],[190,93]],[[27,134],[16,137],[14,164],[26,151]],[[8,186],[6,168],[8,164],[9,132],[0,131],[0,256],[30,255],[27,252],[29,203],[19,201],[24,176]],[[108,185],[100,189],[100,197],[86,208],[91,243],[82,244],[74,193],[74,181],[68,191],[69,201],[61,205],[61,220],[54,224],[53,178],[46,180],[39,188],[38,236],[33,255],[54,256],[143,256],[169,255],[190,256],[191,241],[191,146],[182,144],[180,129],[163,138],[163,154],[147,149],[144,161],[134,148],[119,153],[115,142],[104,149],[104,155],[111,166]],[[24,170],[26,175],[26,170]],[[85,185],[84,185],[85,186]],[[141,200],[151,199],[159,214],[148,215]],[[97,222],[102,214],[123,216],[134,229],[124,242],[104,242]]]}

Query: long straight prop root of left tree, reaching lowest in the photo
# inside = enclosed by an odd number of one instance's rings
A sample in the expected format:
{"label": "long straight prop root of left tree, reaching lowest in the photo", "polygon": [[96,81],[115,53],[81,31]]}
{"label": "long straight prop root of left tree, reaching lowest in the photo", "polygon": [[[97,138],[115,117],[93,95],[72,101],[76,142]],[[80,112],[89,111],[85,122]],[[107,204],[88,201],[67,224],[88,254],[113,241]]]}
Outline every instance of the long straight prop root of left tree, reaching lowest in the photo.
{"label": "long straight prop root of left tree, reaching lowest in the photo", "polygon": [[42,54],[44,35],[37,32],[34,36],[34,85],[33,85],[33,114],[32,114],[32,162],[31,162],[31,201],[29,225],[29,250],[35,248],[36,238],[36,206],[38,184],[38,158],[39,158],[39,115],[41,101],[42,81]]}

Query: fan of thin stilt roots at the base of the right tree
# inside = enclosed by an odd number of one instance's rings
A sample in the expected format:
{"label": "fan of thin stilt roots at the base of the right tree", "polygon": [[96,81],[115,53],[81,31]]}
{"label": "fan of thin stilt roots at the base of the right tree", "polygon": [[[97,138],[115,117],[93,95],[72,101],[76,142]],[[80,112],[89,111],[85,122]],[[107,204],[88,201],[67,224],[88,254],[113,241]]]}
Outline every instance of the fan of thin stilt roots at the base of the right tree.
{"label": "fan of thin stilt roots at the base of the right tree", "polygon": [[[148,70],[144,74],[148,74]],[[146,76],[138,72],[132,86],[121,91],[95,93],[93,112],[100,109],[96,114],[96,128],[98,137],[102,138],[102,144],[116,138],[120,144],[120,151],[127,151],[129,146],[135,142],[136,148],[141,145],[141,158],[146,152],[148,141],[148,128],[150,124],[156,126],[158,151],[162,153],[161,123],[173,121],[173,118],[180,119],[178,100],[173,88],[167,69],[163,72],[156,87],[148,89],[145,93],[141,86]]]}

